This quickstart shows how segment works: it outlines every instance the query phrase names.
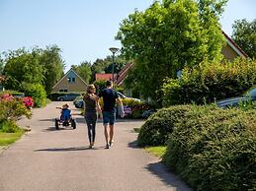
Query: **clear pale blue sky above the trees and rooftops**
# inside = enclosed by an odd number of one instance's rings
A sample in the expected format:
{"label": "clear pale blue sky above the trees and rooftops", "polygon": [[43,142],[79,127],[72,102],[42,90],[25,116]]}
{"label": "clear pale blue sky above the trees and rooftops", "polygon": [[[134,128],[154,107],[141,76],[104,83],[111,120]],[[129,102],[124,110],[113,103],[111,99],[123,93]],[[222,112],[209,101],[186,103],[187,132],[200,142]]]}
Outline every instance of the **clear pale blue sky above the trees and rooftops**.
{"label": "clear pale blue sky above the trees and rooftops", "polygon": [[[137,8],[153,0],[0,0],[0,52],[56,44],[66,70],[81,61],[93,62],[121,47],[119,25]],[[235,20],[256,19],[256,0],[229,0],[221,17],[222,29],[232,32]]]}

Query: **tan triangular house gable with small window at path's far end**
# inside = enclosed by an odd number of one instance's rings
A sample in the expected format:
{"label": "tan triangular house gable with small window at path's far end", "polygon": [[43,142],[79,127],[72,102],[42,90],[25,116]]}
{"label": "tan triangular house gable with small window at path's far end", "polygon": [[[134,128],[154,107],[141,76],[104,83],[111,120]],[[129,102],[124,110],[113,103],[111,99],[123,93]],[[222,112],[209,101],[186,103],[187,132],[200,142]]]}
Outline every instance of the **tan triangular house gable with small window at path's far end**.
{"label": "tan triangular house gable with small window at path's far end", "polygon": [[52,92],[85,92],[86,82],[70,69],[52,88]]}

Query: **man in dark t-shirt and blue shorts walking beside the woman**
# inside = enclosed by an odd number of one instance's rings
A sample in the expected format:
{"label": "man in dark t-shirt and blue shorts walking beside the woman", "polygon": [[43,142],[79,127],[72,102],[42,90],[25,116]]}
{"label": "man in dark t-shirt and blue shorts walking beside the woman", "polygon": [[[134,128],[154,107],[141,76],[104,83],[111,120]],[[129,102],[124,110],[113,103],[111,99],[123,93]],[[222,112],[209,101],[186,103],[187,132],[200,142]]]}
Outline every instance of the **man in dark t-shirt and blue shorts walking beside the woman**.
{"label": "man in dark t-shirt and blue shorts walking beside the woman", "polygon": [[[114,124],[116,121],[116,101],[121,105],[121,116],[125,116],[123,102],[118,93],[113,89],[111,81],[106,82],[106,89],[104,89],[99,97],[103,97],[103,125],[104,134],[106,138],[106,149],[109,149],[113,144]],[[108,131],[109,127],[109,131]]]}

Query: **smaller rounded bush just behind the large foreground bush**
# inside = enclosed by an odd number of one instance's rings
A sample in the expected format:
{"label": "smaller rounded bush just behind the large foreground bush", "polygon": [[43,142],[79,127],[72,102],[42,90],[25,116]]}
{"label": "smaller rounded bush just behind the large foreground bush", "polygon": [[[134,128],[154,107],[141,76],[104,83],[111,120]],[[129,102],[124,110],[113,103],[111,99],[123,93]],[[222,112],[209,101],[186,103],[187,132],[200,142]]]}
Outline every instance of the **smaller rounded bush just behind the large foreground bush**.
{"label": "smaller rounded bush just behind the large foreground bush", "polygon": [[162,108],[152,114],[142,125],[137,143],[139,146],[166,145],[175,123],[183,118],[190,109],[189,105],[177,105]]}

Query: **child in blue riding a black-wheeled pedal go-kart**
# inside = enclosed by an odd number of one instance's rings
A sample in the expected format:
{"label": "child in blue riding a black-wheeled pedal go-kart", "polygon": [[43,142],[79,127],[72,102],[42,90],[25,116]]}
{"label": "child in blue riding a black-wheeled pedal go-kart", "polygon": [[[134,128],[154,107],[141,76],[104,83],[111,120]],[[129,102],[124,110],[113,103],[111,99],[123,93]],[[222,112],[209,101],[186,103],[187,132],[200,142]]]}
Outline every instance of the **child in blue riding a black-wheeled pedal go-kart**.
{"label": "child in blue riding a black-wheeled pedal go-kart", "polygon": [[58,130],[59,126],[67,127],[71,125],[73,129],[76,128],[76,122],[71,116],[71,110],[62,108],[60,118],[55,118],[55,129]]}

